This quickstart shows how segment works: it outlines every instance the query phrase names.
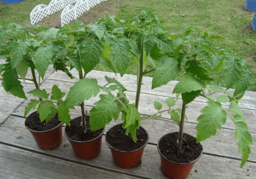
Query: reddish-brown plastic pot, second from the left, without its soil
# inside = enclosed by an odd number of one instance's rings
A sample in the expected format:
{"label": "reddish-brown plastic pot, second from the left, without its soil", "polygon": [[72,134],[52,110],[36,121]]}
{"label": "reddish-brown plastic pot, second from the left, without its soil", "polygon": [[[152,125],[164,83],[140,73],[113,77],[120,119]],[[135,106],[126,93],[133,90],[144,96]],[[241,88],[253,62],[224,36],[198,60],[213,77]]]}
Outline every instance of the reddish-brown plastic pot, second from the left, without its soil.
{"label": "reddish-brown plastic pot, second from the left, without its soil", "polygon": [[66,138],[70,141],[73,147],[74,153],[77,155],[77,157],[90,160],[97,157],[97,155],[101,152],[101,141],[102,141],[102,135],[105,131],[105,127],[102,133],[98,137],[88,141],[77,141],[69,138],[66,134],[65,129],[64,129],[64,134]]}

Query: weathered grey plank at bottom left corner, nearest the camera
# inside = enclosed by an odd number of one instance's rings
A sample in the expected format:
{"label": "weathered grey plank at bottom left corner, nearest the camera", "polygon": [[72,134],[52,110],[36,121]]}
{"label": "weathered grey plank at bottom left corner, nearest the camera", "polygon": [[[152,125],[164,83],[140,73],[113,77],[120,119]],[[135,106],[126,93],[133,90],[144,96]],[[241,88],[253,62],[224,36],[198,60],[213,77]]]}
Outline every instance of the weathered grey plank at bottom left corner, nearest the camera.
{"label": "weathered grey plank at bottom left corner, nearest the camera", "polygon": [[0,144],[1,179],[141,179]]}

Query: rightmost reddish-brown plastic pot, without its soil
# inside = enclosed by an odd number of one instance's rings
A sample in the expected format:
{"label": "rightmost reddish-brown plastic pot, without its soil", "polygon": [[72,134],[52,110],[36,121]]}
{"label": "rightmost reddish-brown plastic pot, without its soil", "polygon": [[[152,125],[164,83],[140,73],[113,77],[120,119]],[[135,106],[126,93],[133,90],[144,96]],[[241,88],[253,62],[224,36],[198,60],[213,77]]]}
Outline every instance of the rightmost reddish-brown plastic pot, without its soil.
{"label": "rightmost reddish-brown plastic pot, without its soil", "polygon": [[199,158],[201,157],[203,151],[201,151],[201,154],[199,155],[199,157],[197,157],[197,159],[195,159],[195,160],[193,160],[193,161],[191,161],[189,163],[173,162],[171,160],[168,160],[161,153],[161,151],[159,149],[159,142],[160,142],[161,138],[158,140],[157,147],[158,147],[158,152],[159,152],[160,157],[161,157],[162,172],[164,173],[164,175],[166,175],[166,177],[169,177],[171,179],[185,179],[190,174],[190,171],[193,168],[195,162],[197,162],[197,160],[199,160]]}

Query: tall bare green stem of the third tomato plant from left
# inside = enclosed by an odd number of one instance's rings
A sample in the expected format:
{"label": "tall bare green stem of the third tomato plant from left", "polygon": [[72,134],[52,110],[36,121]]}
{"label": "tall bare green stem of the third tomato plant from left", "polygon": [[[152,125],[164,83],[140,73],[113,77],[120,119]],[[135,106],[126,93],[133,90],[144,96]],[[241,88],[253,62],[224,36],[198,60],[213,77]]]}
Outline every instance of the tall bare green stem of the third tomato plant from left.
{"label": "tall bare green stem of the third tomato plant from left", "polygon": [[141,44],[140,49],[140,60],[138,61],[138,71],[137,71],[137,91],[136,91],[136,100],[135,100],[135,106],[138,109],[139,106],[139,100],[140,100],[140,90],[141,90],[141,84],[142,84],[142,77],[143,77],[143,40]]}

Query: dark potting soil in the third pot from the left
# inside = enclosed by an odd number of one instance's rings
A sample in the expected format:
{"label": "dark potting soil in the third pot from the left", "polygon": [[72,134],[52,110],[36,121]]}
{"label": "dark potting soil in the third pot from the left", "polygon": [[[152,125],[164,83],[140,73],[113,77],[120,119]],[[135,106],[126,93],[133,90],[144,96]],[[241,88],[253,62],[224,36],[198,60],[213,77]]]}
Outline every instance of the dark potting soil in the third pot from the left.
{"label": "dark potting soil in the third pot from the left", "polygon": [[140,127],[136,132],[138,141],[133,142],[131,136],[125,135],[122,124],[115,125],[106,133],[107,142],[115,149],[121,151],[133,151],[139,149],[147,142],[147,132]]}

